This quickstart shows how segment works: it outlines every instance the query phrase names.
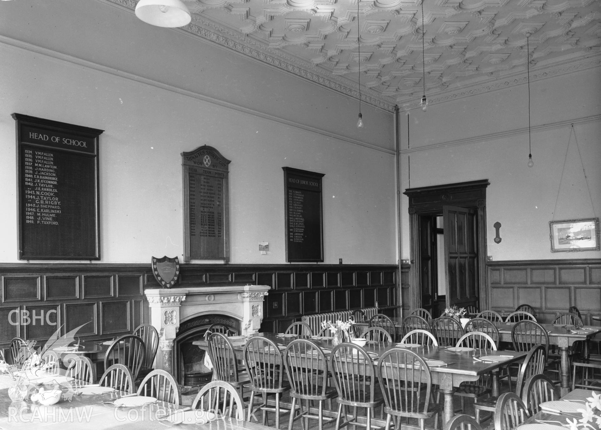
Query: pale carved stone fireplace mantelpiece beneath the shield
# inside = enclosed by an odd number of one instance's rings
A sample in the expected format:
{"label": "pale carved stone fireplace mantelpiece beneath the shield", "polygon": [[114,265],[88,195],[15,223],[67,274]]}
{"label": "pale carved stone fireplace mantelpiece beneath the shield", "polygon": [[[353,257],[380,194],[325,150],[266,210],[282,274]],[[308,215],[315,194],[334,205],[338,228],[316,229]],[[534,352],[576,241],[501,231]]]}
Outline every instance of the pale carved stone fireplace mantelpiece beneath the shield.
{"label": "pale carved stone fireplace mantelpiece beneath the shield", "polygon": [[267,285],[198,286],[145,289],[150,324],[159,332],[155,369],[173,372],[173,340],[180,323],[205,313],[221,313],[240,321],[242,335],[257,333],[263,320]]}

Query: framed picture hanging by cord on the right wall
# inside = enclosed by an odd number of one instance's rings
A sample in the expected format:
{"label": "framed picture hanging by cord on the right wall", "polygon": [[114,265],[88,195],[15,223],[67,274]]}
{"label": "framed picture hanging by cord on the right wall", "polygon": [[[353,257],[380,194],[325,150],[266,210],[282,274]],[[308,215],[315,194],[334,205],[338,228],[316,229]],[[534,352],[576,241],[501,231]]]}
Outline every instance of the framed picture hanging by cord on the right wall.
{"label": "framed picture hanging by cord on the right wall", "polygon": [[551,252],[599,250],[599,218],[549,221]]}

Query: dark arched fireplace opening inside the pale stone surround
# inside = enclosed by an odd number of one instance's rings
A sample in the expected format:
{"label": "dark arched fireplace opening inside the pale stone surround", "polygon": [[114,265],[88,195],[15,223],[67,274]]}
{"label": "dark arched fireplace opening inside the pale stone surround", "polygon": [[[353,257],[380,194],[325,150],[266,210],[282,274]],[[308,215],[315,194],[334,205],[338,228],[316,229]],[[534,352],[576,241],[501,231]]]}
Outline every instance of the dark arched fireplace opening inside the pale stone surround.
{"label": "dark arched fireplace opening inside the pale stone surround", "polygon": [[196,316],[180,324],[177,337],[173,342],[175,372],[177,382],[186,389],[200,387],[208,383],[213,371],[205,365],[206,351],[192,342],[204,339],[204,333],[215,323],[231,327],[240,332],[240,321],[226,315],[209,314]]}

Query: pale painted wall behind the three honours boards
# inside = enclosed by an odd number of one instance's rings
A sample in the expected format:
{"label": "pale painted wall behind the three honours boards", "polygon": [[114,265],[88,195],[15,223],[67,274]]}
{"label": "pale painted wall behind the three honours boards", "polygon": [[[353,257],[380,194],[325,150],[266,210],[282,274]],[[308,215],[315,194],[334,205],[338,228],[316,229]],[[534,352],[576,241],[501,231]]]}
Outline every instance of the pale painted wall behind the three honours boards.
{"label": "pale painted wall behind the three honours boards", "polygon": [[[17,112],[105,130],[102,262],[181,257],[180,153],[206,144],[232,160],[231,263],[285,262],[282,166],[325,174],[326,263],[395,263],[391,114],[366,109],[358,132],[356,102],[347,97],[180,31],[150,28],[105,2],[1,3],[0,262],[17,261]],[[190,61],[177,62],[169,44]],[[267,255],[258,251],[263,241]]]}

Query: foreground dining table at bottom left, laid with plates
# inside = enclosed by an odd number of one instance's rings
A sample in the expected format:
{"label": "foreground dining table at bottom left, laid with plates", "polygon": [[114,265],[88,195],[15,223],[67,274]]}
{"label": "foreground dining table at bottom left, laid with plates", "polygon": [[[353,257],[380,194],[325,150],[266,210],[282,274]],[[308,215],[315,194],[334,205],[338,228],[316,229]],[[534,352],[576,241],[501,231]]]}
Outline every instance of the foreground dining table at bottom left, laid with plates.
{"label": "foreground dining table at bottom left, laid with plates", "polygon": [[[35,384],[32,380],[31,383]],[[126,393],[115,391],[104,394],[86,395],[82,389],[90,384],[84,381],[59,380],[64,398],[55,405],[44,406],[28,401],[11,401],[8,389],[0,390],[0,428],[3,430],[18,429],[60,429],[81,430],[127,429],[153,430],[177,426],[177,428],[200,428],[203,430],[273,430],[258,423],[237,420],[235,417],[207,416],[200,410],[189,411],[191,414],[183,423],[177,423],[177,415],[185,409],[175,407],[168,402],[156,401],[150,404],[133,407],[116,407],[105,401],[114,401],[126,396]],[[52,383],[46,384],[53,386]],[[37,388],[41,387],[37,384]]]}

